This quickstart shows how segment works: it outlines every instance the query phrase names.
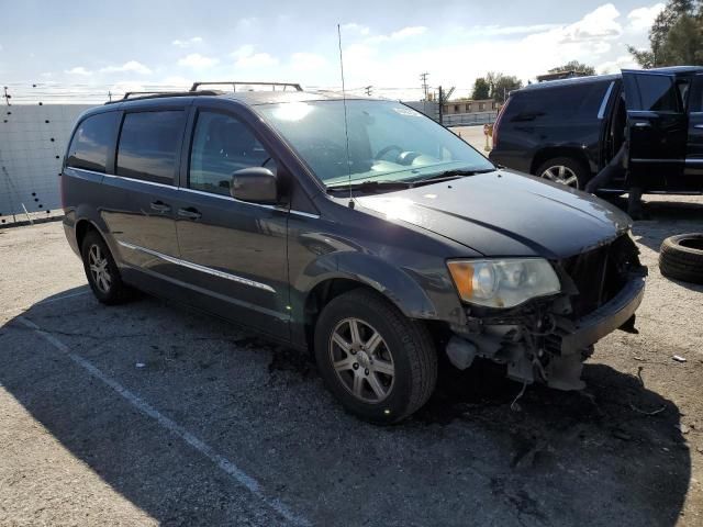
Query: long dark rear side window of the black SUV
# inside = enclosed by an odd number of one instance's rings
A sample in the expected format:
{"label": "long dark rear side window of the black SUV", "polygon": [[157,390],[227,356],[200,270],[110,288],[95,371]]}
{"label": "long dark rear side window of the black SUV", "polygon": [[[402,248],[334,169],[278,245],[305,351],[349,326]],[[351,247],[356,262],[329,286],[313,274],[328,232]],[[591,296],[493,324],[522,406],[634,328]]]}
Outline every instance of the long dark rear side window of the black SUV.
{"label": "long dark rear side window of the black SUV", "polygon": [[595,120],[610,81],[545,87],[516,93],[503,122]]}

